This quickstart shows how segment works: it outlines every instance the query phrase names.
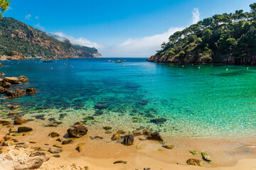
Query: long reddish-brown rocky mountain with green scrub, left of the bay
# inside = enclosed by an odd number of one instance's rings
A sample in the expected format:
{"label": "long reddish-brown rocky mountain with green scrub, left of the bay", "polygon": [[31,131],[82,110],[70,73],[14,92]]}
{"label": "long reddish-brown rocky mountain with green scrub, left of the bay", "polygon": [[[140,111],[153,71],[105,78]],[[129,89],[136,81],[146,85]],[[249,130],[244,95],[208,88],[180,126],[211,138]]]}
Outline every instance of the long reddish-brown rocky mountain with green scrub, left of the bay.
{"label": "long reddish-brown rocky mountain with green scrub, left of the bay", "polygon": [[73,45],[68,39],[49,35],[14,18],[0,18],[0,55],[19,52],[25,57],[102,57],[94,47]]}

